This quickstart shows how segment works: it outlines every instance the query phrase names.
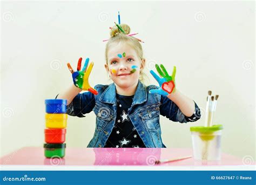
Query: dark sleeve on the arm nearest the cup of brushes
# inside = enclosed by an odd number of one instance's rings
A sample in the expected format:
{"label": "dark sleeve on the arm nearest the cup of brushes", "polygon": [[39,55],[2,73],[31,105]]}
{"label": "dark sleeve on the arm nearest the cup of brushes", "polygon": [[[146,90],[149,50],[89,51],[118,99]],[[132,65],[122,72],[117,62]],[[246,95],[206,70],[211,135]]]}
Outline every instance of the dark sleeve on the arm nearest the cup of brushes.
{"label": "dark sleeve on the arm nearest the cup of brushes", "polygon": [[[194,101],[194,100],[193,100]],[[197,106],[196,102],[194,101],[194,113],[191,117],[186,117],[179,107],[174,104],[172,100],[167,98],[166,96],[161,95],[161,105],[160,105],[160,114],[166,118],[169,118],[171,121],[186,123],[186,122],[194,122],[200,119],[200,108]]]}

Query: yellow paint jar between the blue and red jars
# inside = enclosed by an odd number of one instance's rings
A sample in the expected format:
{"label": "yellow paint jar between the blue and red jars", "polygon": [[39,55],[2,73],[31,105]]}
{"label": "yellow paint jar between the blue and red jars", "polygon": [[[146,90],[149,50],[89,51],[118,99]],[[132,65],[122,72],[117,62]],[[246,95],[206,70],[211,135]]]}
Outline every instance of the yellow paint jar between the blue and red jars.
{"label": "yellow paint jar between the blue and red jars", "polygon": [[68,114],[45,114],[47,128],[66,128]]}

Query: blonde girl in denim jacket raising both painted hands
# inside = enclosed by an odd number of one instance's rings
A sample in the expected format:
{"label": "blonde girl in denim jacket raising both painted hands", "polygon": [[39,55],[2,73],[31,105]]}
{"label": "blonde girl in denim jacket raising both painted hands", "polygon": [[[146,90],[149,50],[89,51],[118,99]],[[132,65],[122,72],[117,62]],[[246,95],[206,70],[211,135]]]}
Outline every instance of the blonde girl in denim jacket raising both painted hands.
{"label": "blonde girl in denim jacket raising both painted hands", "polygon": [[[176,72],[173,71],[170,77],[163,65],[161,68],[164,72],[161,72],[158,65],[157,71],[161,77],[169,77],[169,82],[151,71],[160,87],[146,87],[142,83],[146,62],[142,45],[138,39],[127,36],[130,33],[128,25],[120,26],[124,33],[114,26],[105,50],[105,69],[113,83],[96,85],[94,88],[87,85],[89,92],[80,93],[82,85],[77,81],[79,75],[86,71],[89,62],[86,60],[82,72],[76,75],[69,66],[75,85],[56,98],[68,100],[67,113],[71,116],[85,117],[83,114],[95,112],[95,134],[87,147],[166,147],[161,140],[159,115],[176,122],[191,122],[200,119],[200,109],[196,102],[177,88],[171,91],[163,89],[164,83],[167,89],[170,82],[174,84]],[[81,60],[78,62],[78,71]],[[89,74],[84,73],[87,77]]]}

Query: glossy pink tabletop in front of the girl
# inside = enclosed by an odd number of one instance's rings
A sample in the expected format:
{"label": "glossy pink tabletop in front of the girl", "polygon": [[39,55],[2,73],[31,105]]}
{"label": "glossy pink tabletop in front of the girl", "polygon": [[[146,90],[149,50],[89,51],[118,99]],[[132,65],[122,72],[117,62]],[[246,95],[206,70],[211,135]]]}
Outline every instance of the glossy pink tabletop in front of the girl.
{"label": "glossy pink tabletop in front of the girl", "polygon": [[[1,165],[132,165],[154,166],[156,160],[193,155],[190,148],[66,148],[63,159],[44,157],[43,147],[24,147],[1,157]],[[222,154],[220,161],[196,161],[192,158],[157,166],[233,166],[243,165],[242,159]]]}

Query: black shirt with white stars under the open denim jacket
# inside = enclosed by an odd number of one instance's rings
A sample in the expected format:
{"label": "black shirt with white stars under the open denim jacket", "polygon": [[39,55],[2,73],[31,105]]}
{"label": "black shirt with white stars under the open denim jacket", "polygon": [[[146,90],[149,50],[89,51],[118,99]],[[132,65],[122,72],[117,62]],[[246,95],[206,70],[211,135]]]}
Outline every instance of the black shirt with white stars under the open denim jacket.
{"label": "black shirt with white stars under the open denim jacket", "polygon": [[133,95],[117,94],[117,118],[105,148],[146,148],[128,115],[132,101]]}

